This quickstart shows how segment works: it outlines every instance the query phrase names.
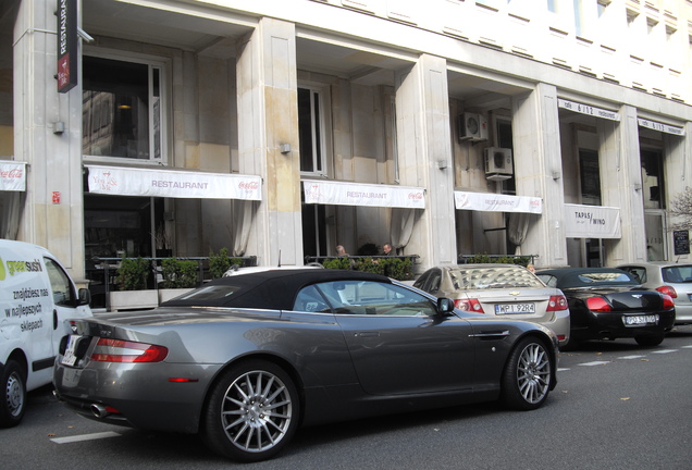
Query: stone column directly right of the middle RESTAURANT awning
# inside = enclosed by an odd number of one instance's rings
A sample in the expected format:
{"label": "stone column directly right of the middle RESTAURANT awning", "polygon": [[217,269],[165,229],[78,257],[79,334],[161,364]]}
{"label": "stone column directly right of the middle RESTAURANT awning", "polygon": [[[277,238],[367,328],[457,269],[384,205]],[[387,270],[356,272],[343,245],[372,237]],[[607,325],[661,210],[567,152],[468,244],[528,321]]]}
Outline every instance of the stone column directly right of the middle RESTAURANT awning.
{"label": "stone column directly right of the middle RESTAURANT awning", "polygon": [[399,178],[427,189],[425,210],[417,210],[406,255],[419,255],[422,271],[456,263],[454,170],[446,61],[423,54],[397,73],[396,119]]}

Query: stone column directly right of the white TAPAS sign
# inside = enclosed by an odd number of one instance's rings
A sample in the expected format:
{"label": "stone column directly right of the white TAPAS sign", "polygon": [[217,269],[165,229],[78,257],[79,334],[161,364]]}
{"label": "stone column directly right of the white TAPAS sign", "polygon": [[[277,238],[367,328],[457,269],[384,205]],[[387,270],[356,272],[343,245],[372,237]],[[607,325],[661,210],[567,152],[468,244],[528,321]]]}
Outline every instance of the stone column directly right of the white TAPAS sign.
{"label": "stone column directly right of the white TAPAS sign", "polygon": [[605,265],[646,261],[642,164],[637,109],[620,108],[620,121],[597,121],[602,206],[620,209],[622,237],[605,239]]}

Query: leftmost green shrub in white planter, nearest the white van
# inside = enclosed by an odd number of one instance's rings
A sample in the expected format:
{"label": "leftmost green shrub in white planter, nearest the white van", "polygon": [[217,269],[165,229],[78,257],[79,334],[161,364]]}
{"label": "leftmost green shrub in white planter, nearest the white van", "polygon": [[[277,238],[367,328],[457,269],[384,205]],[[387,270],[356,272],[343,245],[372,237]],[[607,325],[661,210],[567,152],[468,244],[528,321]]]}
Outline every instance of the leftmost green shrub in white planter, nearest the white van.
{"label": "leftmost green shrub in white planter, nearest the white van", "polygon": [[119,290],[109,294],[109,308],[112,311],[147,309],[159,305],[159,296],[153,289],[147,289],[147,277],[151,270],[149,260],[141,257],[123,257],[118,268],[115,283]]}

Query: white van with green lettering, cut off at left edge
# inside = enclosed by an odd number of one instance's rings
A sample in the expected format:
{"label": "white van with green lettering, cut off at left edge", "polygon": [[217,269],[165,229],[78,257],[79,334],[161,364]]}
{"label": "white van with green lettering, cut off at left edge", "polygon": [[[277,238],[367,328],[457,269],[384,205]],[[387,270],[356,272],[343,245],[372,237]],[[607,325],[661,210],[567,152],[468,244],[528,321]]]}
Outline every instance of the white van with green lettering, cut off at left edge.
{"label": "white van with green lettering, cut off at left edge", "polygon": [[91,317],[89,300],[46,248],[0,239],[0,428],[18,424],[26,393],[51,382],[65,320]]}

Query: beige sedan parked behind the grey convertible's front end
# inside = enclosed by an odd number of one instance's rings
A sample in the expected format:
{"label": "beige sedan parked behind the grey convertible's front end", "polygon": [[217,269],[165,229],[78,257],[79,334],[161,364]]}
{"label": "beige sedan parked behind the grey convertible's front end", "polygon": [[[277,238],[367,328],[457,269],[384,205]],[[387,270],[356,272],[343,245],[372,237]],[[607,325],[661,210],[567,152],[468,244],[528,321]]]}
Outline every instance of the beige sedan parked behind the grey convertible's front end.
{"label": "beige sedan parked behind the grey convertible's front end", "polygon": [[435,267],[413,284],[435,297],[454,299],[456,308],[549,327],[560,346],[569,341],[569,307],[560,289],[547,287],[516,264],[458,264]]}

